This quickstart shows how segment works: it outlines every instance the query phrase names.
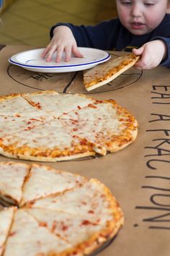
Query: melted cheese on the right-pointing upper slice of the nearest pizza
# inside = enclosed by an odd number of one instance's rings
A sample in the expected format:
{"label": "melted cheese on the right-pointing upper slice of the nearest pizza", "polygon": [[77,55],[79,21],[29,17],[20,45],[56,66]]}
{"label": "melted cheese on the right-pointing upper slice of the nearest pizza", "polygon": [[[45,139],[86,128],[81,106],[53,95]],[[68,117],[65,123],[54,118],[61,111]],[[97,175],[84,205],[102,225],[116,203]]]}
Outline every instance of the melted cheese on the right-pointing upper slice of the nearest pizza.
{"label": "melted cheese on the right-pointing upper slice of the nearest pizza", "polygon": [[[69,208],[66,205],[69,202]],[[84,186],[76,187],[63,195],[45,197],[36,202],[31,202],[30,207],[59,210],[79,216],[91,216],[91,211],[102,218],[109,212],[109,201],[100,183],[87,182]]]}

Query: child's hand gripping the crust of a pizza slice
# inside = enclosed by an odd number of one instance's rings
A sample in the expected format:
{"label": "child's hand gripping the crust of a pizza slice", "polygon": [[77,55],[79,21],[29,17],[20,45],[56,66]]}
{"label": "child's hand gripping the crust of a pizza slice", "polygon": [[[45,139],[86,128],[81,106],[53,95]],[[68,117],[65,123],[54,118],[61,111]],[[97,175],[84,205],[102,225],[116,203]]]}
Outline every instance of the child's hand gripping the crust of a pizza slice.
{"label": "child's hand gripping the crust of a pizza slice", "polygon": [[134,48],[133,54],[141,55],[141,59],[134,66],[136,69],[153,69],[166,58],[166,44],[163,40],[153,40],[138,49]]}

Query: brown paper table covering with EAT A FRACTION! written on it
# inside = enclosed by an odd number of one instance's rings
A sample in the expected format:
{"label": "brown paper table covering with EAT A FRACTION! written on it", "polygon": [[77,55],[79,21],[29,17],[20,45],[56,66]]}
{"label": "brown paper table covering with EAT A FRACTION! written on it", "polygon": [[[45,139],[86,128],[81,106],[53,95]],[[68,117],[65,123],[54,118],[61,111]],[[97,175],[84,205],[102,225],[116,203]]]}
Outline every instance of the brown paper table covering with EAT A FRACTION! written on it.
{"label": "brown paper table covering with EAT A FRACTION! written on it", "polygon": [[[170,255],[170,69],[130,69],[91,93],[82,72],[44,74],[9,64],[26,46],[0,51],[0,94],[57,90],[113,98],[138,120],[138,137],[117,153],[88,160],[44,163],[103,182],[125,213],[125,225],[99,256]],[[120,52],[112,52],[120,56]],[[0,161],[18,161],[0,156]],[[29,162],[29,161],[25,161]]]}

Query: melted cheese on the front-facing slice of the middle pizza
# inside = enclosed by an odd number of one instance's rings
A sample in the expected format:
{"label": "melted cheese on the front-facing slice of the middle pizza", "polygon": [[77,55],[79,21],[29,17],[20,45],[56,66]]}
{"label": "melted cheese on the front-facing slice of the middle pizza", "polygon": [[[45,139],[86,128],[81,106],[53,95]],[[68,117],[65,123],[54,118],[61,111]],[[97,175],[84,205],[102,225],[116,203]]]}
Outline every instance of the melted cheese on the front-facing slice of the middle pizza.
{"label": "melted cheese on the front-facing slice of the middle pizza", "polygon": [[73,140],[71,134],[58,119],[53,119],[40,124],[34,129],[24,130],[23,132],[14,133],[12,136],[7,136],[3,142],[4,145],[8,146],[16,143],[17,148],[25,145],[30,148],[43,148],[44,150],[45,148],[64,150],[65,148],[71,148],[75,140]]}

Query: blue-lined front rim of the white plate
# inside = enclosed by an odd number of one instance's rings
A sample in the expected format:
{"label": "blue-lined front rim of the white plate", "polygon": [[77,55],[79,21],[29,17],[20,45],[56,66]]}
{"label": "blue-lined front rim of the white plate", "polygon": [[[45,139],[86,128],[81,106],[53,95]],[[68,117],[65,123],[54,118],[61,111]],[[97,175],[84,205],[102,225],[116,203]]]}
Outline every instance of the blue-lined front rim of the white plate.
{"label": "blue-lined front rim of the white plate", "polygon": [[[107,53],[108,54],[108,53]],[[9,59],[9,62],[21,67],[30,67],[30,68],[39,68],[39,69],[63,69],[63,68],[69,68],[69,67],[81,67],[81,66],[87,66],[87,65],[93,65],[93,64],[97,64],[97,63],[101,63],[104,61],[107,61],[107,59],[109,59],[111,57],[110,54],[108,54],[104,59],[100,59],[98,61],[92,61],[92,62],[88,62],[88,63],[84,63],[84,64],[73,64],[73,65],[66,65],[66,66],[34,66],[34,65],[27,65],[27,64],[20,64],[17,61],[12,61],[12,59]],[[30,61],[30,60],[29,60]]]}

